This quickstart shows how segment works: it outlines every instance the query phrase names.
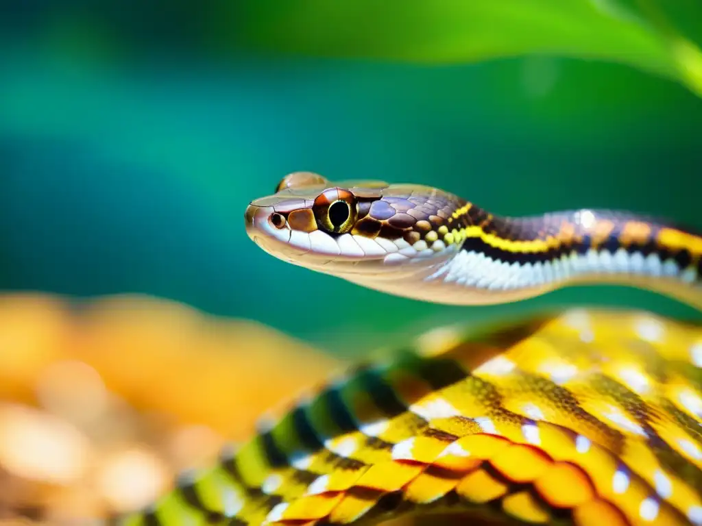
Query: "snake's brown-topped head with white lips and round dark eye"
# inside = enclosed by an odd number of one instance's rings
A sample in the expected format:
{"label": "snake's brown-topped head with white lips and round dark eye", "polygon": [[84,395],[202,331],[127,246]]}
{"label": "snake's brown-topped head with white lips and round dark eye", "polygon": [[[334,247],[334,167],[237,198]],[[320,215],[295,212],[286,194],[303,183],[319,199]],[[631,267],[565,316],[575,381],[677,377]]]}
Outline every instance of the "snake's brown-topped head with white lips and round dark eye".
{"label": "snake's brown-topped head with white lips and round dark eye", "polygon": [[325,274],[397,277],[453,255],[451,215],[464,203],[414,184],[331,183],[296,172],[251,201],[246,232],[271,255]]}

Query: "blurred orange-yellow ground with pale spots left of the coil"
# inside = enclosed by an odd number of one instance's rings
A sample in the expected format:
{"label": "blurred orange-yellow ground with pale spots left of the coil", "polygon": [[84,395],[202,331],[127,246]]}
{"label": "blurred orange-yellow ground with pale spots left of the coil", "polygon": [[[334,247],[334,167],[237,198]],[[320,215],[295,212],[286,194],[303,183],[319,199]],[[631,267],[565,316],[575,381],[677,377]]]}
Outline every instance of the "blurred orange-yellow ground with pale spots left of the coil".
{"label": "blurred orange-yellow ground with pale spots left of the coil", "polygon": [[0,524],[140,508],[338,365],[180,304],[0,297]]}

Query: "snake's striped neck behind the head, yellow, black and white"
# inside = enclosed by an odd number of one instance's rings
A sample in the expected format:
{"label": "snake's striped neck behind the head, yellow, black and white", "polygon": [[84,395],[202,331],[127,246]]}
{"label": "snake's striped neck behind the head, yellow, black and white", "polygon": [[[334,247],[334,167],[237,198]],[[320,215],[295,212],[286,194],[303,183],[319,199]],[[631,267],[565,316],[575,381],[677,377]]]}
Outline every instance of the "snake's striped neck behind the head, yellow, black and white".
{"label": "snake's striped neck behind the head, yellow, black and white", "polygon": [[462,242],[450,259],[371,286],[430,302],[485,304],[602,283],[702,309],[702,236],[688,229],[611,210],[511,218],[470,209],[454,230]]}

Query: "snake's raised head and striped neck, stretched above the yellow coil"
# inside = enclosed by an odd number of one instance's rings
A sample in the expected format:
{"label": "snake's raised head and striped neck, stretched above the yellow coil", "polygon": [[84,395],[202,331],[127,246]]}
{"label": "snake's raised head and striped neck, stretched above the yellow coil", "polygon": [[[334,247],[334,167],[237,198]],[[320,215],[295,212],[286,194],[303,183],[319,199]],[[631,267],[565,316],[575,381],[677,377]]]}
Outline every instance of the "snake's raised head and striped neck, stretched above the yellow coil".
{"label": "snake's raised head and striped neck, stretched above the yellow coil", "polygon": [[574,283],[623,283],[702,306],[702,236],[649,217],[575,210],[497,217],[416,184],[293,173],[246,210],[270,254],[429,302],[513,302]]}

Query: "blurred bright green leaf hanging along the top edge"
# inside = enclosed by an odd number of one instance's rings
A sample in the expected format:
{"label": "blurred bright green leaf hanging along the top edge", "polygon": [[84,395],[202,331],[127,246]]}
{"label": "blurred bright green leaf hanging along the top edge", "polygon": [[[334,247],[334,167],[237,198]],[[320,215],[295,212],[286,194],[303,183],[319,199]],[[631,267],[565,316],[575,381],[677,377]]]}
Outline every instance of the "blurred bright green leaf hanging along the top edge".
{"label": "blurred bright green leaf hanging along the top edge", "polygon": [[259,50],[428,64],[562,55],[631,65],[702,95],[702,54],[670,18],[699,27],[702,0],[660,1],[665,9],[653,0],[239,0],[217,22],[228,43]]}

